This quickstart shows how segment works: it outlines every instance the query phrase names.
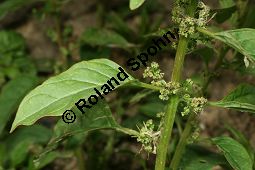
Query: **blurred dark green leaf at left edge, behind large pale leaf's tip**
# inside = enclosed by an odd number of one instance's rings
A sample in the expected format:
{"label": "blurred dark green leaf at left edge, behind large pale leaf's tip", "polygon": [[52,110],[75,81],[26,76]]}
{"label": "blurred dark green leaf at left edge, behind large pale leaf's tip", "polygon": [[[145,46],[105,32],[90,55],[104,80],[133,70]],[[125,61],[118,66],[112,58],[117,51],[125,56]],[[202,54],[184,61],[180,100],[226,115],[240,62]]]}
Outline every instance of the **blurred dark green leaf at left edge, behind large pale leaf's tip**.
{"label": "blurred dark green leaf at left edge, behind large pale leaf's tip", "polygon": [[0,134],[22,98],[37,84],[37,78],[22,75],[9,81],[0,94]]}

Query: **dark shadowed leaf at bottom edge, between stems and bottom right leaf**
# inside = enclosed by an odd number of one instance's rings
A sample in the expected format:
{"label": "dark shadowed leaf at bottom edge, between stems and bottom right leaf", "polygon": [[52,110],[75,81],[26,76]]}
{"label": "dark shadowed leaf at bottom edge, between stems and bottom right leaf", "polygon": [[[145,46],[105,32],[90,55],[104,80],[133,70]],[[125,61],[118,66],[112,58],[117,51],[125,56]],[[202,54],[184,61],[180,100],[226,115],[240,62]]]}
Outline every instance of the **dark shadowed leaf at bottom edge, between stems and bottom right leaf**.
{"label": "dark shadowed leaf at bottom edge, between stems and bottom right leaf", "polygon": [[189,145],[185,154],[183,154],[179,169],[212,170],[216,165],[225,163],[226,161],[222,155],[213,153],[198,145]]}

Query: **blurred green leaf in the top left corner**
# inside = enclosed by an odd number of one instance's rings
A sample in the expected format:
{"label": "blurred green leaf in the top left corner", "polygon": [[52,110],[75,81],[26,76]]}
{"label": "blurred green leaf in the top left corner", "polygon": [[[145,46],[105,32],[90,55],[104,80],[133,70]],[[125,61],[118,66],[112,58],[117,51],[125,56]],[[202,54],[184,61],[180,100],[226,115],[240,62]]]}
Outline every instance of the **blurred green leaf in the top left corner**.
{"label": "blurred green leaf in the top left corner", "polygon": [[0,3],[0,20],[9,12],[13,12],[19,8],[25,7],[33,2],[43,0],[6,0]]}

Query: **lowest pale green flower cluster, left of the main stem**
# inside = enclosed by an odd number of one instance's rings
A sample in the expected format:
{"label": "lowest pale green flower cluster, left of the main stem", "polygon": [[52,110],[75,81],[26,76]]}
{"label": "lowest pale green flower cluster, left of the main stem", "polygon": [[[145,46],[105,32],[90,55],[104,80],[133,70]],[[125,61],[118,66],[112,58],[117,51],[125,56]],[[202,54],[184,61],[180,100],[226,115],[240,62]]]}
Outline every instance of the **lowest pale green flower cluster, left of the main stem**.
{"label": "lowest pale green flower cluster, left of the main stem", "polygon": [[156,154],[157,151],[157,141],[160,136],[160,131],[154,131],[155,125],[150,119],[146,123],[143,122],[143,127],[139,129],[139,135],[137,137],[137,142],[142,143],[142,149],[148,153]]}

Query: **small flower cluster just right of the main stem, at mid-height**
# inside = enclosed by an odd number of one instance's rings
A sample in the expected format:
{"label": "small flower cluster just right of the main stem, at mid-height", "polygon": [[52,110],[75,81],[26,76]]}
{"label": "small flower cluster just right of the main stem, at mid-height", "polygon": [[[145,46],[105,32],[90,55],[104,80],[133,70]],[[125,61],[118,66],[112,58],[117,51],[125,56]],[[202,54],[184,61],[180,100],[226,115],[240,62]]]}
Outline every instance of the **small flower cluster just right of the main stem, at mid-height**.
{"label": "small flower cluster just right of the main stem, at mid-height", "polygon": [[207,99],[203,97],[192,98],[189,94],[185,94],[183,96],[183,100],[186,102],[187,106],[185,106],[181,112],[182,116],[188,115],[190,112],[194,112],[196,114],[200,113],[207,103]]}

